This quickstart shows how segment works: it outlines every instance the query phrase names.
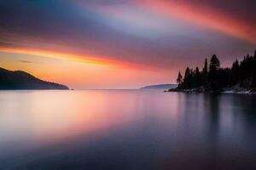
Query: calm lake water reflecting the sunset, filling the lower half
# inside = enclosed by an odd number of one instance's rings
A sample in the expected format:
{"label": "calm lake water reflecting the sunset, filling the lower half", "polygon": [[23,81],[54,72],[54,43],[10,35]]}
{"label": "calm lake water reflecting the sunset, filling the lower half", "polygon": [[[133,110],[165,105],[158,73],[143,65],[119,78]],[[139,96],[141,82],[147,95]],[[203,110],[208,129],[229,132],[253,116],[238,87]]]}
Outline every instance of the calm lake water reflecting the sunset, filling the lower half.
{"label": "calm lake water reflecting the sunset, filling the lower half", "polygon": [[256,169],[256,96],[1,91],[0,169]]}

